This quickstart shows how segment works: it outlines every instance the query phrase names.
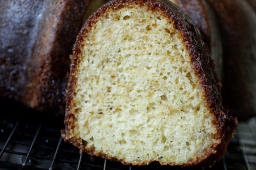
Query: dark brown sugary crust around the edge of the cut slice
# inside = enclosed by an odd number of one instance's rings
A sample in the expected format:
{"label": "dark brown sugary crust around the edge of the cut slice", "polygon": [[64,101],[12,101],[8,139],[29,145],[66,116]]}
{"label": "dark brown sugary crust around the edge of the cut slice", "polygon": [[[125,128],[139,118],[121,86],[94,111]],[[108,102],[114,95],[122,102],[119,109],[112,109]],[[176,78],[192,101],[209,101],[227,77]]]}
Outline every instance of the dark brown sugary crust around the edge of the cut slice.
{"label": "dark brown sugary crust around the edge of the cut slice", "polygon": [[[71,56],[71,74],[69,75],[69,83],[67,90],[67,104],[66,104],[66,115],[65,115],[65,126],[66,129],[62,130],[62,137],[65,141],[70,141],[76,147],[79,147],[80,151],[85,151],[90,155],[96,155],[103,158],[107,158],[113,161],[121,161],[124,164],[131,165],[147,165],[150,162],[125,162],[122,159],[114,158],[111,155],[104,153],[96,153],[93,148],[87,148],[86,142],[80,137],[76,138],[73,134],[76,118],[72,112],[72,106],[75,105],[73,96],[75,96],[75,88],[78,75],[77,66],[80,63],[82,54],[80,49],[83,47],[83,40],[86,38],[87,33],[98,18],[101,17],[107,10],[117,10],[119,8],[132,8],[134,6],[146,6],[150,10],[157,10],[162,16],[169,18],[174,21],[176,29],[178,29],[183,37],[185,46],[191,54],[192,66],[200,79],[202,84],[202,90],[205,94],[206,104],[210,108],[210,112],[213,115],[212,123],[217,128],[217,134],[215,139],[219,143],[215,143],[205,154],[197,158],[196,161],[190,160],[184,162],[181,166],[193,166],[198,164],[213,165],[215,161],[219,160],[221,156],[226,152],[227,143],[230,141],[234,130],[237,126],[237,120],[227,116],[225,109],[222,107],[221,94],[219,92],[218,80],[212,60],[209,57],[208,48],[202,41],[199,31],[191,23],[187,16],[176,7],[173,3],[168,0],[114,0],[110,3],[105,4],[102,8],[98,9],[86,22],[82,30],[80,31],[75,46],[73,55]],[[162,164],[175,165],[172,162],[160,162]]]}

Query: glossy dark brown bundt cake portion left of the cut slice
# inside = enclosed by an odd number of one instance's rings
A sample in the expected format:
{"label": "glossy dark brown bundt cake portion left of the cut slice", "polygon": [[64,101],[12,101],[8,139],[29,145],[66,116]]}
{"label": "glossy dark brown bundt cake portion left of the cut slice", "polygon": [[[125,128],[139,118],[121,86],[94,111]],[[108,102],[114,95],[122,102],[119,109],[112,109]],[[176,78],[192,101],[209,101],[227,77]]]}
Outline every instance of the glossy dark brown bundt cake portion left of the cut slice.
{"label": "glossy dark brown bundt cake portion left of the cut slice", "polygon": [[102,3],[1,0],[0,98],[64,114],[69,55],[83,18]]}

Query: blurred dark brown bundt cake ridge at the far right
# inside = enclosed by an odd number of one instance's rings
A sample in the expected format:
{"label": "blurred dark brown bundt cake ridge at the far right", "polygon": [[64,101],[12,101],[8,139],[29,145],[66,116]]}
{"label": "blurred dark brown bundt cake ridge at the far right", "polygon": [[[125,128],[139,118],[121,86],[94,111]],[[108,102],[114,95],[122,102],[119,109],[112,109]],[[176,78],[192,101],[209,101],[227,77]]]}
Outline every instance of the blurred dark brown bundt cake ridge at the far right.
{"label": "blurred dark brown bundt cake ridge at the far right", "polygon": [[208,0],[223,44],[223,104],[238,118],[256,115],[256,12],[242,0]]}

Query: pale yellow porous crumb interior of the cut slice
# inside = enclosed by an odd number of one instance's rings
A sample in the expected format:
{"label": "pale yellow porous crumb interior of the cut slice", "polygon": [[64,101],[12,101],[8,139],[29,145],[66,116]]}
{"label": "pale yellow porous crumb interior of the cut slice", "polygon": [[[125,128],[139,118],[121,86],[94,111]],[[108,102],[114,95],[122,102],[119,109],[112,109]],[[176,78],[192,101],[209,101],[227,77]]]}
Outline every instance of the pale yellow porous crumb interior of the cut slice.
{"label": "pale yellow porous crumb interior of the cut slice", "polygon": [[124,162],[181,165],[216,127],[180,32],[146,7],[106,11],[84,40],[72,137]]}

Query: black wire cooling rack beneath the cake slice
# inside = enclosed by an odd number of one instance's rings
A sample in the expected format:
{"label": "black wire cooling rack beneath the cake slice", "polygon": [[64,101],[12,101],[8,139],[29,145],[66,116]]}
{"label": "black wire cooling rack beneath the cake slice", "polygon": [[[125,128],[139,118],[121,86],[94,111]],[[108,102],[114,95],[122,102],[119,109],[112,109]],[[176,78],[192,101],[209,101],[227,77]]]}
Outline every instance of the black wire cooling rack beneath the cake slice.
{"label": "black wire cooling rack beneath the cake slice", "polygon": [[[1,106],[2,108],[4,106]],[[180,170],[180,167],[127,166],[91,157],[63,142],[63,118],[8,106],[0,112],[0,170]],[[256,170],[256,118],[238,124],[227,153],[213,167],[196,170]]]}

